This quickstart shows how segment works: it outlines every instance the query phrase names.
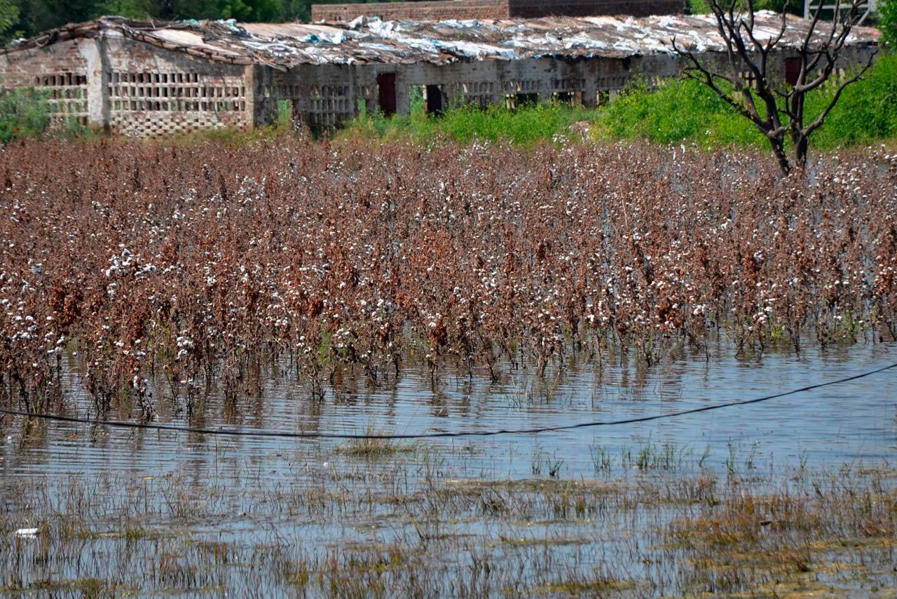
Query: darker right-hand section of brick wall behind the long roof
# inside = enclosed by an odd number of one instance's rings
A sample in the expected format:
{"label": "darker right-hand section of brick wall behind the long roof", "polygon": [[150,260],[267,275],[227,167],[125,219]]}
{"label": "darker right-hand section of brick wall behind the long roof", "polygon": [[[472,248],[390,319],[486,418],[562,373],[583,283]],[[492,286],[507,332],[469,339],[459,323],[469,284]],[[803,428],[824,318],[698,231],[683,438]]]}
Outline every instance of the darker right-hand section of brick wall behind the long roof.
{"label": "darker right-hand section of brick wall behind the long roof", "polygon": [[509,0],[509,15],[518,19],[539,17],[592,16],[597,14],[677,14],[683,12],[683,0]]}

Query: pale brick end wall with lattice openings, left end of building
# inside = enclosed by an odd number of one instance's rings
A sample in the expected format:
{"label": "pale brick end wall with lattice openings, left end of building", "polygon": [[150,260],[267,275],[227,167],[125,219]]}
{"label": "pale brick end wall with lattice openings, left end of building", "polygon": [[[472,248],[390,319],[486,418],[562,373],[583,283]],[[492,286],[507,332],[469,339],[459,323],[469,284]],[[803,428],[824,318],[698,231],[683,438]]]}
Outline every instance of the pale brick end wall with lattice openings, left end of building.
{"label": "pale brick end wall with lattice openings, left end of building", "polygon": [[253,96],[244,66],[122,38],[104,45],[105,62],[97,40],[89,38],[0,54],[0,93],[35,87],[47,94],[55,125],[108,126],[127,136],[252,128]]}

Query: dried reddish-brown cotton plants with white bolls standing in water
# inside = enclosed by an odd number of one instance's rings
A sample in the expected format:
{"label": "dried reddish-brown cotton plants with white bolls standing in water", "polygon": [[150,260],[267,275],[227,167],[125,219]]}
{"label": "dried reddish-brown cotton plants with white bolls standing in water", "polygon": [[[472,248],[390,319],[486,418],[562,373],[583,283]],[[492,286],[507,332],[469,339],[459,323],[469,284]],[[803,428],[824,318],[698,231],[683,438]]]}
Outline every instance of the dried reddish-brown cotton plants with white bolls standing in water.
{"label": "dried reddish-brown cotton plants with white bolls standing in water", "polygon": [[890,340],[895,164],[782,181],[756,155],[638,144],[11,145],[3,387],[31,401],[66,351],[106,407],[153,373],[232,387],[261,356],[323,394],[341,367],[419,358],[494,374],[716,335]]}

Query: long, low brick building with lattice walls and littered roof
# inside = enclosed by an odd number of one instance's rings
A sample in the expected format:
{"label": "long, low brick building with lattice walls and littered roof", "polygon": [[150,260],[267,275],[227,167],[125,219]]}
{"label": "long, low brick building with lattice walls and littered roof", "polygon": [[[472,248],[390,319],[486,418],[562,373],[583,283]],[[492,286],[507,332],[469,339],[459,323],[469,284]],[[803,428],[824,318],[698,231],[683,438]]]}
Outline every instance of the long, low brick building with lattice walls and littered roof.
{"label": "long, low brick building with lattice walls and littered roof", "polygon": [[[757,18],[761,34],[778,31],[776,15]],[[786,49],[773,57],[783,76],[788,45],[802,40],[807,27],[788,19]],[[433,112],[455,104],[595,105],[633,79],[680,73],[684,61],[672,49],[674,36],[707,59],[724,56],[716,23],[707,16],[360,16],[243,25],[107,17],[4,48],[0,92],[35,87],[47,93],[57,122],[127,136],[259,127],[284,107],[312,128],[327,128],[361,110],[406,114],[415,93]],[[878,37],[856,28],[842,66],[866,57]]]}

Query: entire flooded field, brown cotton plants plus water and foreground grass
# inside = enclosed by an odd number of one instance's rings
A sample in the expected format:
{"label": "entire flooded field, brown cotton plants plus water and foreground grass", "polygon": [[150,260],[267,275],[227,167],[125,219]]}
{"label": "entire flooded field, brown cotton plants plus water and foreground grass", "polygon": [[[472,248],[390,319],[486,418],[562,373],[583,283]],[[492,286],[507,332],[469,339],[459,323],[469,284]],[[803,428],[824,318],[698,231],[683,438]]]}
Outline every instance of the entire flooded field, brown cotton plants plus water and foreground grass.
{"label": "entire flooded field, brown cotton plants plus water and foreground grass", "polygon": [[48,141],[0,181],[6,595],[897,586],[897,368],[644,420],[897,363],[887,148]]}

